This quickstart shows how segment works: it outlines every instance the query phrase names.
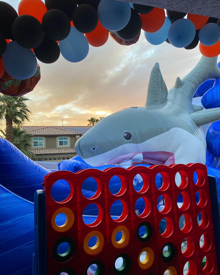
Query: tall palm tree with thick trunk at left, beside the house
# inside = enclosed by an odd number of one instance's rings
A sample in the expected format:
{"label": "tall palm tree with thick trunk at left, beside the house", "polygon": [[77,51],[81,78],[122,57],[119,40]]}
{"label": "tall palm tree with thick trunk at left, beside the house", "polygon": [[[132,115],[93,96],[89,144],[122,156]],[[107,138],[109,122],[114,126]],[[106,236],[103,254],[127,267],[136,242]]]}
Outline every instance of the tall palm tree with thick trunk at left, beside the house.
{"label": "tall palm tree with thick trunk at left, beside the house", "polygon": [[21,125],[25,119],[29,121],[31,110],[26,104],[27,101],[27,97],[0,96],[0,121],[5,119],[5,138],[9,142],[12,142],[13,123]]}

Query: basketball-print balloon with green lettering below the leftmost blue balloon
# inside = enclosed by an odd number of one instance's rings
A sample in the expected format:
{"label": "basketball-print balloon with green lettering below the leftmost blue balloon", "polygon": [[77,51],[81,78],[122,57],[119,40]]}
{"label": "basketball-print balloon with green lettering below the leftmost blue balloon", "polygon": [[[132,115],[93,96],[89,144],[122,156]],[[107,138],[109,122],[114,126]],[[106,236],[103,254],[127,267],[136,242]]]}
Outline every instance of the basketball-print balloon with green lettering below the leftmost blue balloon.
{"label": "basketball-print balloon with green lettering below the leftmost blue balloon", "polygon": [[20,97],[34,90],[34,87],[40,80],[40,66],[36,73],[28,79],[19,80],[10,76],[6,71],[0,78],[0,92],[4,95]]}

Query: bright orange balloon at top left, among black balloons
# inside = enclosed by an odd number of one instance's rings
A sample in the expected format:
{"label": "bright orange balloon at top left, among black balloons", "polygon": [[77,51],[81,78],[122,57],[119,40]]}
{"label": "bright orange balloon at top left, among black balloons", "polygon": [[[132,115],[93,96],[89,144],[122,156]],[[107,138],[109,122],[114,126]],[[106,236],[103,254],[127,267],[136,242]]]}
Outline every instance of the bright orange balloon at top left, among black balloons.
{"label": "bright orange balloon at top left, among black balloons", "polygon": [[18,5],[19,15],[32,15],[42,23],[42,18],[47,12],[47,7],[41,0],[21,0]]}

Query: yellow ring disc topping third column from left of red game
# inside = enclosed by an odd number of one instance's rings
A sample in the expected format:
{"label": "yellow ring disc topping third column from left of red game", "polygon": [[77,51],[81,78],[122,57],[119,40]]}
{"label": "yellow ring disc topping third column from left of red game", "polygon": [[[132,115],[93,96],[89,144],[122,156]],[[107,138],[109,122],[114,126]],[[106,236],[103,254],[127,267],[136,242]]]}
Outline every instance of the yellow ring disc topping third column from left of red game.
{"label": "yellow ring disc topping third column from left of red game", "polygon": [[111,235],[111,242],[116,248],[125,247],[130,239],[130,233],[127,227],[121,225],[114,229]]}

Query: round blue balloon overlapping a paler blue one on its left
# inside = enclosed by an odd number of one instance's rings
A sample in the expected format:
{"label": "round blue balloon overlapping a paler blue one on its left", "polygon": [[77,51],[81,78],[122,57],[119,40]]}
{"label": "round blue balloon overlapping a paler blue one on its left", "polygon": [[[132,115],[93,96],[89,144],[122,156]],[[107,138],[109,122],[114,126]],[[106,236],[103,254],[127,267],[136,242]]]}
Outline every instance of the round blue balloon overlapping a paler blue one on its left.
{"label": "round blue balloon overlapping a paler blue one on its left", "polygon": [[195,38],[196,28],[189,19],[181,18],[176,20],[168,31],[170,44],[176,48],[188,46]]}

